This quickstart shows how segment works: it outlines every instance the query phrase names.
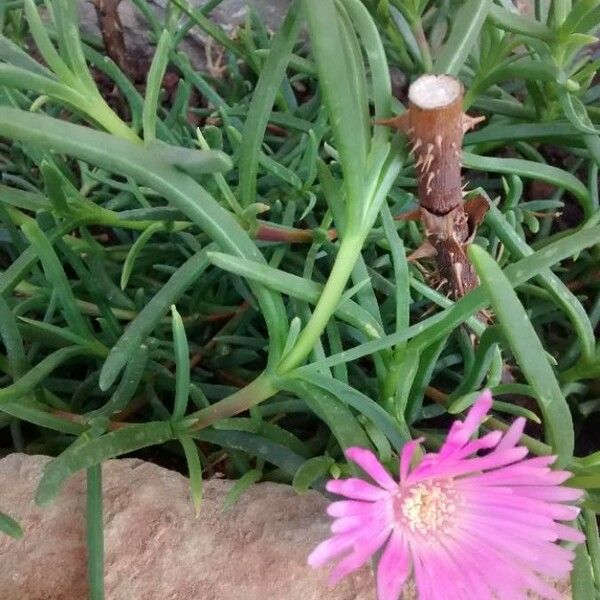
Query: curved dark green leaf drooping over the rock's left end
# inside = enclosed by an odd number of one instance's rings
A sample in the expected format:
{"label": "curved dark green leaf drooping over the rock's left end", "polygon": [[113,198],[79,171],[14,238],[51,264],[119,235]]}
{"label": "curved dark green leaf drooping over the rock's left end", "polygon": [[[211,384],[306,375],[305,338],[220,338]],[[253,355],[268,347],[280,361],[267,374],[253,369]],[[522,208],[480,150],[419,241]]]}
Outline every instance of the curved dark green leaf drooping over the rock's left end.
{"label": "curved dark green leaf drooping over the rock's left end", "polygon": [[173,439],[171,425],[154,421],[143,425],[128,425],[94,439],[79,438],[44,468],[35,500],[44,505],[52,502],[63,483],[77,471],[89,469],[101,462]]}

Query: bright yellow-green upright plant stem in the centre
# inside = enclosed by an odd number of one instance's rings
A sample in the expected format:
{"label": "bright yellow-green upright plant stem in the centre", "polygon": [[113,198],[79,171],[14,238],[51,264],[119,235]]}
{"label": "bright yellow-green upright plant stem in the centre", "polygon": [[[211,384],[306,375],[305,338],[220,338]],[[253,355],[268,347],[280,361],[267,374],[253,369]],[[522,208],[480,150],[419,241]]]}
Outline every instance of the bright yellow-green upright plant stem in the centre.
{"label": "bright yellow-green upright plant stem in the centre", "polygon": [[342,240],[319,302],[294,347],[279,363],[279,374],[284,375],[295,369],[310,354],[344,293],[354,263],[362,250],[364,237],[365,235],[349,236]]}

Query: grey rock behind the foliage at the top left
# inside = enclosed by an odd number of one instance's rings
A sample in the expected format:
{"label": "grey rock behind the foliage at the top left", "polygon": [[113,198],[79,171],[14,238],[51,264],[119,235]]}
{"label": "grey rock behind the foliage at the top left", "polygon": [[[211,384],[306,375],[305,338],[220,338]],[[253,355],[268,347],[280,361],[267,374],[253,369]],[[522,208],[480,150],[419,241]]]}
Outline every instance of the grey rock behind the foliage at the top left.
{"label": "grey rock behind the foliage at the top left", "polygon": [[[192,0],[194,8],[206,4],[207,0]],[[159,19],[162,19],[168,0],[149,0],[147,4],[153,8]],[[277,29],[285,16],[290,0],[224,0],[211,13],[211,19],[219,23],[226,31],[232,32],[246,20],[249,10],[254,9],[270,29]],[[92,0],[79,3],[81,29],[86,34],[99,36],[97,16]],[[155,45],[150,35],[148,22],[137,10],[131,0],[122,0],[119,15],[123,25],[123,33],[128,52],[136,59],[148,59],[154,53]],[[179,46],[192,64],[198,69],[206,66],[204,41],[206,36],[194,27],[187,38]]]}

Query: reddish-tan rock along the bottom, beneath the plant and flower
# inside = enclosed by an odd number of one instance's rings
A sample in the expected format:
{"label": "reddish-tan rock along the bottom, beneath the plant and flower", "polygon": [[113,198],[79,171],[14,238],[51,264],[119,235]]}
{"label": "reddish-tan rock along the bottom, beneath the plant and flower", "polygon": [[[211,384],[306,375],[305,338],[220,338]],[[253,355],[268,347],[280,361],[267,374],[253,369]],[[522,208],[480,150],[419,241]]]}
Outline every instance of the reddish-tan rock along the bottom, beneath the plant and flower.
{"label": "reddish-tan rock along the bottom, beneath the plant and flower", "polygon": [[[0,534],[2,600],[81,600],[87,597],[84,477],[79,473],[50,506],[33,496],[45,456],[0,460],[0,511],[25,534]],[[232,482],[205,482],[194,516],[182,475],[135,459],[104,463],[106,600],[375,600],[365,567],[335,588],[327,570],[306,565],[328,535],[327,501],[289,487],[261,483],[231,509]],[[568,585],[559,589],[571,598]],[[404,600],[414,600],[414,591]]]}

